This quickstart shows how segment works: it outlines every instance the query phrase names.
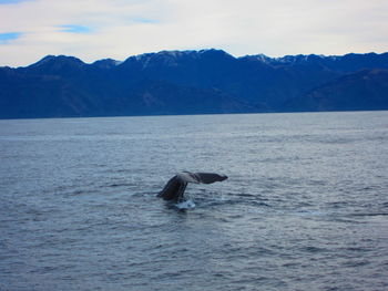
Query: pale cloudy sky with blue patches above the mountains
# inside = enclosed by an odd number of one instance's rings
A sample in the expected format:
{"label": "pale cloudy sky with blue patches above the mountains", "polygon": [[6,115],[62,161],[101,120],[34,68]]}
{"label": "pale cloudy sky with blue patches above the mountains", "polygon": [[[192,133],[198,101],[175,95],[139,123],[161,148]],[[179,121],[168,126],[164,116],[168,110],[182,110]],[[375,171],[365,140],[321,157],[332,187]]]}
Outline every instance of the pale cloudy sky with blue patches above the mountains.
{"label": "pale cloudy sky with blue patches above the mountains", "polygon": [[163,50],[234,56],[388,51],[388,0],[0,0],[0,66]]}

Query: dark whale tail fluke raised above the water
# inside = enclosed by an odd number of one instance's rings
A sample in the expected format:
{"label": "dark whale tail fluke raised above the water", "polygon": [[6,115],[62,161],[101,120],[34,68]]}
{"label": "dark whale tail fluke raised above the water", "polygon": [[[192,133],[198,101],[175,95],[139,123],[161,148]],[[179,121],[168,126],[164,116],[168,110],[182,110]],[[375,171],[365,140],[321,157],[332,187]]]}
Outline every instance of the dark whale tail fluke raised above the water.
{"label": "dark whale tail fluke raised above the water", "polygon": [[162,197],[164,200],[178,202],[183,200],[183,194],[186,189],[187,183],[212,184],[215,181],[223,181],[225,179],[227,179],[227,176],[215,173],[182,172],[167,181],[166,186],[164,186],[163,190],[160,191],[157,197]]}

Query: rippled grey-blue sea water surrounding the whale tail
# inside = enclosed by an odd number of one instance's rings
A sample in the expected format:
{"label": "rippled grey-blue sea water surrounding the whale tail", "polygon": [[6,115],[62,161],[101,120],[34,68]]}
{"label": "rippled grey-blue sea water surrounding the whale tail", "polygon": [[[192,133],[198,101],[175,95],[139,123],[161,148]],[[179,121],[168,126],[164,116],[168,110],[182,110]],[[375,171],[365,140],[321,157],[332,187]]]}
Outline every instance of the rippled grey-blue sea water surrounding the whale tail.
{"label": "rippled grey-blue sea water surrounding the whale tail", "polygon": [[[388,112],[0,121],[0,290],[388,290]],[[181,170],[182,211],[155,197]]]}

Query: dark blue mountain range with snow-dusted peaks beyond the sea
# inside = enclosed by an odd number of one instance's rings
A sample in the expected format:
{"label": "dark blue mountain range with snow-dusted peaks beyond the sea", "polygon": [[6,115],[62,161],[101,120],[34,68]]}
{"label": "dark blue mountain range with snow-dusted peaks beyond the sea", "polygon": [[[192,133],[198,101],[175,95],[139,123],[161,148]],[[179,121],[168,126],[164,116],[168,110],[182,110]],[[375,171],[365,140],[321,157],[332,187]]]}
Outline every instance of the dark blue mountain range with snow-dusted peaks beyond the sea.
{"label": "dark blue mountain range with snow-dusted peaks beyond the sea", "polygon": [[0,67],[0,118],[388,108],[388,53],[163,51]]}

